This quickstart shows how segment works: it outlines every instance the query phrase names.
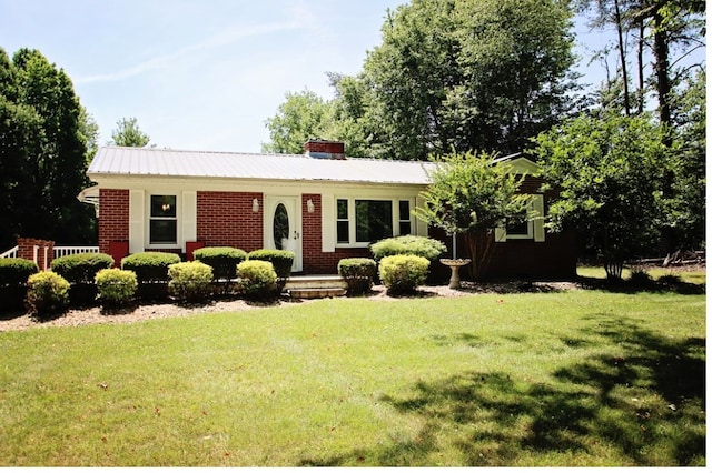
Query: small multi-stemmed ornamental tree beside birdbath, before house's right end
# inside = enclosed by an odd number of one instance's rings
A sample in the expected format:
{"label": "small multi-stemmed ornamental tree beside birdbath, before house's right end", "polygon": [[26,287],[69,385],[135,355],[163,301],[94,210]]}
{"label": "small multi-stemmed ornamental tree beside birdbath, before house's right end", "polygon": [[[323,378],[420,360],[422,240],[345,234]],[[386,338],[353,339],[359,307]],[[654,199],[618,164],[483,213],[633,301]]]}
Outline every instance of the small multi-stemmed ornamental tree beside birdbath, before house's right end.
{"label": "small multi-stemmed ornamental tree beside birdbath, before house's right end", "polygon": [[439,157],[432,183],[421,194],[424,205],[414,210],[428,224],[465,235],[474,281],[486,275],[492,261],[494,229],[528,209],[528,198],[517,193],[524,175],[513,173],[506,162],[493,163],[493,158],[455,151]]}

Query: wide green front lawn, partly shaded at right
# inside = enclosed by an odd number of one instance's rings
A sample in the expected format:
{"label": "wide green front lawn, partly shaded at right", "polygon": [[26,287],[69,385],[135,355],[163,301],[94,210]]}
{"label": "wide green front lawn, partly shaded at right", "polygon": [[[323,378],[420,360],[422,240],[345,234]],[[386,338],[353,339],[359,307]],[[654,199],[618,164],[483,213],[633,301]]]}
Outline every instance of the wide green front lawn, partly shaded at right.
{"label": "wide green front lawn, partly shaded at right", "polygon": [[323,300],[0,351],[2,465],[705,464],[703,294]]}

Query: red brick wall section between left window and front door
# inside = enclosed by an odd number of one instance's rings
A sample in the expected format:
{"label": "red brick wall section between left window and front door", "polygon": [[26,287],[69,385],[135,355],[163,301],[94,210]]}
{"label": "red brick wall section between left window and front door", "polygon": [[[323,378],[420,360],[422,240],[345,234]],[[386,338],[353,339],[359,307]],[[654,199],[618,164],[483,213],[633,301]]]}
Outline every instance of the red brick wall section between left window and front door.
{"label": "red brick wall section between left window and front door", "polygon": [[[253,212],[253,200],[259,211]],[[264,197],[259,192],[198,191],[198,241],[206,246],[263,248]]]}

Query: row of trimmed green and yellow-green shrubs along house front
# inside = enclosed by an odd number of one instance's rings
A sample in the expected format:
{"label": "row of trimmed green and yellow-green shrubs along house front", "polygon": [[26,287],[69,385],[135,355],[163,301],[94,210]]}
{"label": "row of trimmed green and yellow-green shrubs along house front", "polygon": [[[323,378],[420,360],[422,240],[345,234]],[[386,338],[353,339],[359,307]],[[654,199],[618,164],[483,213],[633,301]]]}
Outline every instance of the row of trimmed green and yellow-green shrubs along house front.
{"label": "row of trimmed green and yellow-green shrubs along house front", "polygon": [[[337,270],[349,294],[363,294],[380,278],[394,294],[412,293],[425,281],[429,262],[445,246],[423,236],[396,236],[372,245],[374,260],[343,259]],[[58,258],[51,271],[39,272],[31,261],[0,260],[0,311],[18,309],[23,301],[31,313],[61,313],[70,301],[120,306],[135,299],[145,301],[172,295],[182,302],[199,302],[215,293],[235,290],[246,299],[279,294],[291,273],[295,254],[283,250],[243,250],[218,246],[195,253],[196,261],[180,262],[177,254],[142,252],[121,260],[102,253]]]}

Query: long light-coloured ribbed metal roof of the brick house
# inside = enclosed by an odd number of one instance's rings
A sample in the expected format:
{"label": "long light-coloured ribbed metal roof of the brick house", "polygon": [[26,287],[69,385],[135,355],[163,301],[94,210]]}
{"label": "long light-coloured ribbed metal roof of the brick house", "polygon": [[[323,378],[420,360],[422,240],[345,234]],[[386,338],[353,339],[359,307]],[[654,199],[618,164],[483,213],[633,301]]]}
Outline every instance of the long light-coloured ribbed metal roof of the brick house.
{"label": "long light-coloured ribbed metal roof of the brick house", "polygon": [[427,184],[431,162],[102,147],[87,174]]}

